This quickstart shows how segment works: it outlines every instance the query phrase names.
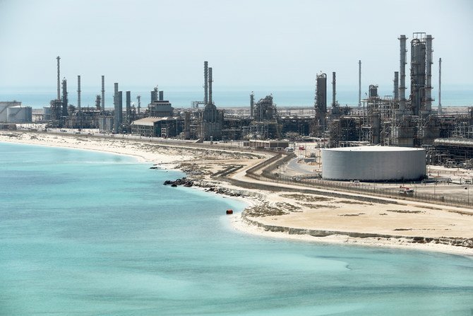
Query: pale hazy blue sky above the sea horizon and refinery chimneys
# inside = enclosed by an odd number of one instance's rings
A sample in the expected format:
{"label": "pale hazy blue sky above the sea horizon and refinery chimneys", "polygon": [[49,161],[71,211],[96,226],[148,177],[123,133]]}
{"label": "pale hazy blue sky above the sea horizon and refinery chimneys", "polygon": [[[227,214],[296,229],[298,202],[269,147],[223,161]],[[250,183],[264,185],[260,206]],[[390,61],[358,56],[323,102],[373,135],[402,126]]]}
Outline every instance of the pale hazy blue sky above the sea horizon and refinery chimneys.
{"label": "pale hazy blue sky above the sea horizon and refinery chimneys", "polygon": [[204,60],[215,89],[313,86],[320,71],[357,87],[361,59],[363,86],[392,90],[397,37],[414,32],[434,37],[434,88],[438,57],[443,84],[473,86],[472,0],[0,0],[0,87],[55,91],[60,55],[73,88],[200,88]]}

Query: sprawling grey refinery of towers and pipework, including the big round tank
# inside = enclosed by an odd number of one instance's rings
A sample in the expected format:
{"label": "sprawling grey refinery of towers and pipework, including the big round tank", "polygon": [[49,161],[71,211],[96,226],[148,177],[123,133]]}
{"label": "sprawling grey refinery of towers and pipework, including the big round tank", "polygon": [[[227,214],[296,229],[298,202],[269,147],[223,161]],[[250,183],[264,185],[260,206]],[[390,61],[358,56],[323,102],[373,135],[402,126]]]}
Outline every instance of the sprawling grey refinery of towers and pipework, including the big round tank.
{"label": "sprawling grey refinery of towers and pipework, including the big round tank", "polygon": [[[414,33],[409,50],[405,35],[400,35],[398,40],[400,66],[393,71],[393,95],[378,95],[378,86],[371,84],[366,98],[362,99],[359,61],[357,106],[341,106],[337,102],[335,72],[332,72],[332,101],[328,105],[328,75],[321,73],[316,74],[315,102],[313,106],[303,109],[302,115],[290,115],[290,112],[279,110],[273,95],[256,100],[252,92],[249,93],[249,105],[245,111],[219,108],[212,99],[212,67],[206,61],[203,63],[203,100],[194,101],[188,108],[174,108],[172,100],[166,100],[164,92],[157,86],[150,91],[147,105],[142,105],[144,98],[141,95],[133,97],[138,101],[135,105],[131,102],[131,91],[124,93],[119,83],[114,83],[113,107],[106,107],[104,76],[95,107],[81,106],[80,76],[77,76],[77,103],[74,106],[69,103],[67,80],[61,80],[60,57],[56,57],[56,98],[44,107],[35,121],[51,128],[98,129],[102,133],[191,139],[196,142],[252,141],[256,144],[268,140],[318,140],[319,146],[327,148],[323,151],[327,162],[323,167],[323,177],[326,179],[415,179],[426,176],[426,163],[471,168],[473,107],[461,113],[442,109],[441,59],[438,59],[438,107],[432,107],[432,35]],[[409,74],[406,72],[408,63]],[[22,122],[32,122],[31,107],[23,107],[16,101],[0,103],[2,128],[12,128],[11,124]],[[369,147],[345,149],[357,146]],[[418,159],[420,165],[414,163],[411,164],[412,170],[406,169],[409,161]],[[343,165],[348,161],[376,165],[381,160],[384,165],[390,161],[394,171],[352,176],[342,172]]]}

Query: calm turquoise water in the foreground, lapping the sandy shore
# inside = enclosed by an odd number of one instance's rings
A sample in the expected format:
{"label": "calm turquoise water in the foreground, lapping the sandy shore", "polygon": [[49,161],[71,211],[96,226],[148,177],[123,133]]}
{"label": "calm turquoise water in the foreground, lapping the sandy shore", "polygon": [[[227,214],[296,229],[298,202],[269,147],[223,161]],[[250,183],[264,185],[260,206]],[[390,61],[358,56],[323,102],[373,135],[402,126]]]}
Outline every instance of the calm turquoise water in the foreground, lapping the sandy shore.
{"label": "calm turquoise water in the foreground, lapping the sandy shore", "polygon": [[0,315],[472,315],[471,258],[245,235],[179,172],[0,153]]}

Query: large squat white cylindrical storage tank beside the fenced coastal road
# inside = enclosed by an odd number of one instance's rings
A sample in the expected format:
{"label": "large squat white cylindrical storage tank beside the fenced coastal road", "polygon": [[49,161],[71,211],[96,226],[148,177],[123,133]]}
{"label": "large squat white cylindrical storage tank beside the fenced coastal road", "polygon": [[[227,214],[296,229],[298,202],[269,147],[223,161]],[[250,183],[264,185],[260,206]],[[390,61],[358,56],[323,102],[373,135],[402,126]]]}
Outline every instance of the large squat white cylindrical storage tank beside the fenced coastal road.
{"label": "large squat white cylindrical storage tank beside the fenced coastal road", "polygon": [[422,148],[359,146],[322,149],[326,180],[419,180],[426,177]]}

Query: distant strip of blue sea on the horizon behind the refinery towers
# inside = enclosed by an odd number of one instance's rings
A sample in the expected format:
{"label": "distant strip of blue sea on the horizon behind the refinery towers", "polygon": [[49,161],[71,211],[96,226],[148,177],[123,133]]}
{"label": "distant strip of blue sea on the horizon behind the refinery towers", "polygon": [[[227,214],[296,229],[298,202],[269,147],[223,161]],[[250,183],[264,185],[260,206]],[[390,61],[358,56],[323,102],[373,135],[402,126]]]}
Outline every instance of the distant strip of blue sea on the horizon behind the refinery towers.
{"label": "distant strip of blue sea on the horizon behind the refinery towers", "polygon": [[[367,88],[367,86],[366,86]],[[141,96],[141,106],[147,107],[150,103],[151,88],[120,87],[120,89],[131,91],[131,102],[137,107],[137,96]],[[173,107],[191,107],[193,101],[203,100],[203,88],[195,87],[162,87],[164,90],[164,100],[169,100]],[[100,87],[83,87],[80,95],[82,107],[95,107],[96,95],[101,95]],[[161,90],[161,88],[160,88]],[[366,89],[362,90],[361,98],[366,98]],[[273,102],[279,107],[309,107],[314,105],[315,90],[311,86],[294,87],[215,87],[213,98],[217,107],[249,107],[250,94],[253,92],[255,102],[266,95],[273,95]],[[328,87],[328,104],[331,104],[332,90]],[[437,91],[433,92],[433,97],[437,99]],[[378,90],[380,97],[393,95],[392,89]],[[407,91],[407,96],[409,91]],[[6,88],[0,87],[0,101],[17,100],[22,105],[30,106],[33,109],[49,107],[49,101],[57,98],[56,88],[52,87],[23,87]],[[446,86],[442,90],[441,103],[443,107],[453,106],[473,106],[473,88],[471,86]],[[125,96],[124,96],[125,99]],[[337,102],[342,105],[358,105],[358,88],[352,86],[341,86],[337,88]],[[68,101],[77,105],[77,92],[75,86],[69,86]],[[124,100],[125,102],[125,100]],[[434,100],[433,107],[437,107],[438,100]],[[113,86],[105,87],[105,107],[113,107]]]}

